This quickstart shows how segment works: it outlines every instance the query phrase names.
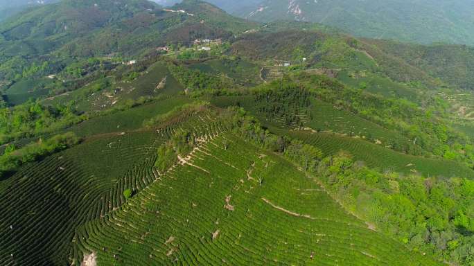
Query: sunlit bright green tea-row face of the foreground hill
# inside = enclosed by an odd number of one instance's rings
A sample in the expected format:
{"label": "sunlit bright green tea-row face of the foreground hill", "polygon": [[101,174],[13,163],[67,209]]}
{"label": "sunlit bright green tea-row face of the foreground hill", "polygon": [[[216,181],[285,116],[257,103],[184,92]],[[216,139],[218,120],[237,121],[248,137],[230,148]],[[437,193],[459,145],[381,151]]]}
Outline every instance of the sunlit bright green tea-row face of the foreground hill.
{"label": "sunlit bright green tea-row face of the foreground hill", "polygon": [[207,139],[73,242],[97,265],[440,265],[232,134]]}

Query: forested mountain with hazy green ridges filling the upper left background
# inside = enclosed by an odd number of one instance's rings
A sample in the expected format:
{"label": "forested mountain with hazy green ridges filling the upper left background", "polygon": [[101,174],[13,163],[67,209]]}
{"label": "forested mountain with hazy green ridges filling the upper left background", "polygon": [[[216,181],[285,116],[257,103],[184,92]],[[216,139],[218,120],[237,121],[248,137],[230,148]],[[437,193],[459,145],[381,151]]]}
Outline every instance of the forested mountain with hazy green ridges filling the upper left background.
{"label": "forested mountain with hazy green ridges filling the upper left background", "polygon": [[207,3],[190,3],[177,7],[189,8],[188,14],[164,11],[146,0],[64,0],[36,8],[0,25],[0,78],[17,80],[30,71],[51,75],[71,61],[133,57],[166,44],[233,37],[255,26],[209,10]]}

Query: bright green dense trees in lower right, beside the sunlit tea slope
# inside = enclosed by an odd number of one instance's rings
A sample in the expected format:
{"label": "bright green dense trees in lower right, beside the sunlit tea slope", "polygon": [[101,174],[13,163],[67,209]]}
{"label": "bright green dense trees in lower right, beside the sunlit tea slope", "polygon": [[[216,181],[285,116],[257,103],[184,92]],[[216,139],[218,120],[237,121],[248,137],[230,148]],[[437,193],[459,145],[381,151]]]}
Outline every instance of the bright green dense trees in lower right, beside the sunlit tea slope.
{"label": "bright green dense trees in lower right, beside the sunlit tea slope", "polygon": [[317,177],[344,206],[410,249],[472,262],[473,181],[382,174],[346,154],[324,159]]}

